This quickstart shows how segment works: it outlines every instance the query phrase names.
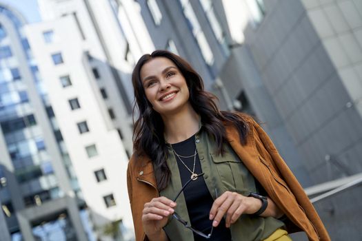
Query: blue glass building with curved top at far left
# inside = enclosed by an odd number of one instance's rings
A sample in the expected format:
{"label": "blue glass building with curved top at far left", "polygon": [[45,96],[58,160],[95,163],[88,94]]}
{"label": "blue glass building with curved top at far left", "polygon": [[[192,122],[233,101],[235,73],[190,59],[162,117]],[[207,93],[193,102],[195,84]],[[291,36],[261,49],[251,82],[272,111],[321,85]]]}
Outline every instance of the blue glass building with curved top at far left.
{"label": "blue glass building with curved top at far left", "polygon": [[1,238],[11,233],[12,240],[32,240],[28,237],[48,233],[52,226],[59,237],[85,240],[84,202],[76,196],[77,177],[25,24],[19,12],[0,5],[0,199],[8,227]]}

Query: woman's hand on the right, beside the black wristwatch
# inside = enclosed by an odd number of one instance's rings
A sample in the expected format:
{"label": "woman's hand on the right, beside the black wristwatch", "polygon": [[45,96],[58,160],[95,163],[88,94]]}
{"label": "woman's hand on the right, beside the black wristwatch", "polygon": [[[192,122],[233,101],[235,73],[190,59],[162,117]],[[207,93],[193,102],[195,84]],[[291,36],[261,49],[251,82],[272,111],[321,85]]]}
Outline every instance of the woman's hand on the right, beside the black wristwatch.
{"label": "woman's hand on the right, beside the black wristwatch", "polygon": [[221,218],[226,214],[225,226],[230,227],[238,220],[243,213],[252,214],[261,208],[261,200],[257,198],[243,196],[240,193],[225,191],[223,195],[214,200],[214,204],[210,210],[210,220],[212,226],[217,227]]}

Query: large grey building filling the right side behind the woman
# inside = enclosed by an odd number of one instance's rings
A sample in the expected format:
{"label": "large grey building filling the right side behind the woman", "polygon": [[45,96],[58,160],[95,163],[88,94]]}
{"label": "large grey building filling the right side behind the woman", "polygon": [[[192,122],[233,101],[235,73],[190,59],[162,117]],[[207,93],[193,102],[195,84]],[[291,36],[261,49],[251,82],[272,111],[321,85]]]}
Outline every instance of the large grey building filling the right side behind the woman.
{"label": "large grey building filling the right side behind the woman", "polygon": [[[138,2],[156,48],[188,59],[221,107],[257,116],[308,193],[361,178],[361,1]],[[316,203],[333,240],[359,238],[360,194]]]}

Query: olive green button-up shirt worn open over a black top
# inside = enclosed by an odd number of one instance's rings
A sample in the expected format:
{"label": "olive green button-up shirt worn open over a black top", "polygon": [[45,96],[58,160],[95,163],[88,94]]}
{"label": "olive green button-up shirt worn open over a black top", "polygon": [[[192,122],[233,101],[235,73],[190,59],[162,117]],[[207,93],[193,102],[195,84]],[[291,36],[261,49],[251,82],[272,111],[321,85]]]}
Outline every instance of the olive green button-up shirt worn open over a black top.
{"label": "olive green button-up shirt worn open over a black top", "polygon": [[[225,154],[221,156],[216,154],[217,147],[212,138],[202,129],[196,134],[195,140],[204,173],[203,178],[212,198],[215,199],[216,195],[220,196],[225,191],[235,191],[244,196],[248,196],[251,191],[257,192],[254,177],[243,165],[230,145],[224,145]],[[167,163],[171,171],[171,180],[168,187],[160,192],[160,196],[172,199],[181,190],[182,184],[179,167],[171,148],[169,148]],[[175,211],[190,224],[183,193],[177,198]],[[283,222],[276,218],[262,218],[242,214],[239,220],[231,225],[230,231],[234,241],[264,240],[283,225]],[[178,222],[172,216],[163,229],[172,241],[194,240],[192,231],[186,229],[181,222]]]}

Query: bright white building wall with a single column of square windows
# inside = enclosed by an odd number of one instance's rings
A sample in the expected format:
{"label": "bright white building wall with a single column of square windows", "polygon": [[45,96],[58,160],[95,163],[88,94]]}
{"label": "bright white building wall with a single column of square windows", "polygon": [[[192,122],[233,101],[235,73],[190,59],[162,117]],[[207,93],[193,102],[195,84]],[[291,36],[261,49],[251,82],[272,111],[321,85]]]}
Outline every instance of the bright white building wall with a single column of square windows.
{"label": "bright white building wall with a single column of square windows", "polygon": [[[43,40],[43,32],[47,30],[53,30],[55,36],[54,43],[49,45]],[[104,114],[105,104],[100,101],[97,83],[90,78],[90,67],[84,65],[83,51],[88,50],[90,43],[83,41],[72,15],[37,23],[29,26],[26,32],[94,223],[101,225],[122,219],[127,227],[132,227],[125,176],[128,158],[117,130],[107,125],[110,118]],[[63,64],[52,63],[54,52],[61,52]],[[59,76],[68,74],[72,86],[63,88]],[[78,98],[81,108],[72,111],[70,98]],[[87,121],[90,132],[79,134],[77,123],[81,121]],[[98,156],[88,158],[85,147],[92,144],[96,145]],[[97,182],[94,171],[101,168],[105,169],[108,179]],[[107,208],[103,196],[110,193],[117,205]]]}

